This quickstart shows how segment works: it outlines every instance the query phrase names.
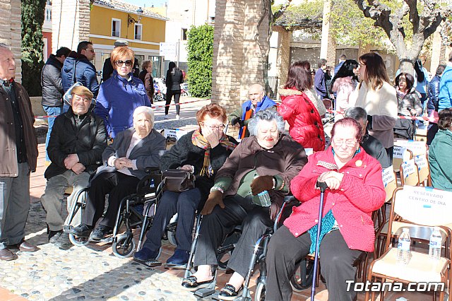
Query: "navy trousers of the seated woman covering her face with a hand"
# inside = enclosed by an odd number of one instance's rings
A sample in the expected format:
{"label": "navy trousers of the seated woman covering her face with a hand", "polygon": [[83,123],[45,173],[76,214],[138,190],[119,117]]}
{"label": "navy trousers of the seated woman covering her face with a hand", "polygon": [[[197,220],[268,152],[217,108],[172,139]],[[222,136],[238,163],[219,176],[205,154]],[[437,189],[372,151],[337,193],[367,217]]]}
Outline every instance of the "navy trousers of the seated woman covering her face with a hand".
{"label": "navy trousers of the seated woman covering her face with a hand", "polygon": [[158,202],[153,218],[153,226],[146,234],[143,247],[157,251],[162,246],[162,236],[169,220],[177,215],[176,240],[177,248],[190,251],[191,232],[195,220],[196,208],[201,201],[201,191],[198,188],[177,193],[165,191]]}

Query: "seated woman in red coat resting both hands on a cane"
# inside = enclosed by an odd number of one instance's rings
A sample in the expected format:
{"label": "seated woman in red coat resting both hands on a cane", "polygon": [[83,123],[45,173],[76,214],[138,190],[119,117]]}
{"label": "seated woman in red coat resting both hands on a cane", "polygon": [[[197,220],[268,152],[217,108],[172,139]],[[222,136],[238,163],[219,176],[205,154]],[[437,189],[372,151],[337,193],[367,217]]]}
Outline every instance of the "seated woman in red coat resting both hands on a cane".
{"label": "seated woman in red coat resting both hands on a cane", "polygon": [[380,163],[360,146],[361,129],[351,118],[340,119],[331,131],[331,146],[314,153],[302,172],[290,182],[290,191],[302,202],[270,240],[266,257],[267,300],[290,300],[290,276],[295,263],[314,252],[320,190],[325,182],[319,252],[321,273],[329,300],[355,300],[346,281],[354,281],[353,262],[374,250],[372,211],[383,205],[386,192]]}

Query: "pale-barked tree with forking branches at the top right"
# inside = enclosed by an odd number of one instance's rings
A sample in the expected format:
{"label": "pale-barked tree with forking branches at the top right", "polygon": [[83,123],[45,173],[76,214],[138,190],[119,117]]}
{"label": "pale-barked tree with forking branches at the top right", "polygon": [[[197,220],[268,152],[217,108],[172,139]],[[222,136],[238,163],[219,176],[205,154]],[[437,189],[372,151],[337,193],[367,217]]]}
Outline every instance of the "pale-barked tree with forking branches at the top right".
{"label": "pale-barked tree with forking branches at the top right", "polygon": [[[441,6],[441,1],[420,0],[422,12],[418,10],[417,0],[403,0],[402,7],[392,11],[378,0],[353,0],[364,16],[375,20],[374,25],[383,28],[389,40],[396,48],[400,60],[400,70],[412,73],[413,63],[419,56],[427,37],[446,18],[452,16],[452,6]],[[412,25],[412,37],[408,39],[403,18],[408,15]]]}

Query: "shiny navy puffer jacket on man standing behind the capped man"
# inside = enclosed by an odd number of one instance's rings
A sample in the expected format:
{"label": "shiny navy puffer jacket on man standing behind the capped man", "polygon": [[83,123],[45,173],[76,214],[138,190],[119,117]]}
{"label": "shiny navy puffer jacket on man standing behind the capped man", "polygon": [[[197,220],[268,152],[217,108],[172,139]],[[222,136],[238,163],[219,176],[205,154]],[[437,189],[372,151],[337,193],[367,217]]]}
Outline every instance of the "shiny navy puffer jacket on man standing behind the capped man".
{"label": "shiny navy puffer jacket on man standing behind the capped man", "polygon": [[83,55],[77,52],[71,52],[64,61],[61,70],[61,81],[63,82],[63,90],[66,93],[71,85],[73,85],[73,69],[75,64],[76,81],[84,85],[97,97],[99,92],[99,82],[97,81],[96,67]]}

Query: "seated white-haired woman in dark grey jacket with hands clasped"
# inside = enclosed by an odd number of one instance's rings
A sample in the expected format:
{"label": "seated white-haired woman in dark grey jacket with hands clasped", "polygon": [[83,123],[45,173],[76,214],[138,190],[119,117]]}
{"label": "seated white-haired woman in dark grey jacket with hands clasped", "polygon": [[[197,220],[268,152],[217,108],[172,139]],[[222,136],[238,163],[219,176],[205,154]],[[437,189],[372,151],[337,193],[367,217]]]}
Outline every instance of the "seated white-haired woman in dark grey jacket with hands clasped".
{"label": "seated white-haired woman in dark grey jacket with hands clasped", "polygon": [[[165,137],[153,129],[154,112],[150,107],[137,107],[133,112],[133,127],[120,132],[102,153],[104,165],[91,179],[82,223],[69,232],[77,237],[90,237],[99,242],[112,231],[121,199],[136,191],[146,167],[158,167],[160,152],[165,151]],[[105,208],[104,218],[93,231]]]}

